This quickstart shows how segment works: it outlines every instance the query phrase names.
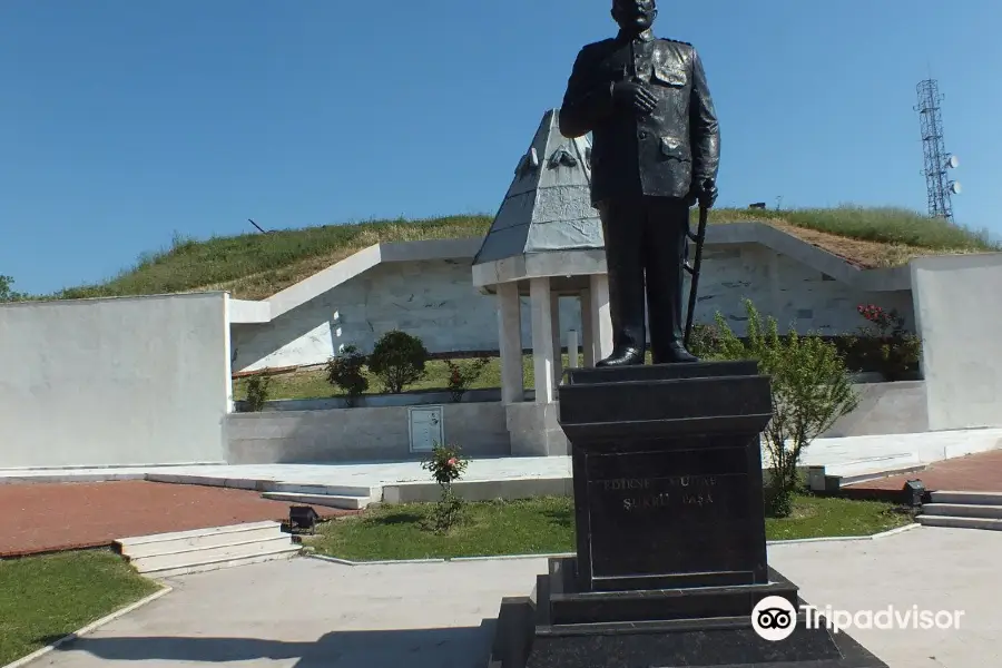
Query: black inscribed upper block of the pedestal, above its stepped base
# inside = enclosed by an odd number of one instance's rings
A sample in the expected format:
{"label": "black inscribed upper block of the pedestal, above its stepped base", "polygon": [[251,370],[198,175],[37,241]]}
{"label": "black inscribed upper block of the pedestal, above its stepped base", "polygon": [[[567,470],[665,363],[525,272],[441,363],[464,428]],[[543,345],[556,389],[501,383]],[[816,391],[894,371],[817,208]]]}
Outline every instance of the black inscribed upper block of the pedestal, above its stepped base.
{"label": "black inscribed upper block of the pedestal, above its stepped base", "polygon": [[737,372],[756,364],[568,373],[582,591],[767,582],[758,438],[772,394],[767,376]]}

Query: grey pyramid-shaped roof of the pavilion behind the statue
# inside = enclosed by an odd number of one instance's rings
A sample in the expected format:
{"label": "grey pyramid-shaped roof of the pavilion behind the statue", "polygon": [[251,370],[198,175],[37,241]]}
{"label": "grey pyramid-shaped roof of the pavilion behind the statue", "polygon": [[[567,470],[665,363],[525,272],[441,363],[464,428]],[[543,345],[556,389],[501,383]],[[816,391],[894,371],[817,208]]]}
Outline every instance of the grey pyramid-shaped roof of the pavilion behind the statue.
{"label": "grey pyramid-shaped roof of the pavilion behind the statue", "polygon": [[558,116],[559,109],[543,115],[474,265],[531,253],[605,247],[602,225],[591,206],[591,146],[583,137],[564,138]]}

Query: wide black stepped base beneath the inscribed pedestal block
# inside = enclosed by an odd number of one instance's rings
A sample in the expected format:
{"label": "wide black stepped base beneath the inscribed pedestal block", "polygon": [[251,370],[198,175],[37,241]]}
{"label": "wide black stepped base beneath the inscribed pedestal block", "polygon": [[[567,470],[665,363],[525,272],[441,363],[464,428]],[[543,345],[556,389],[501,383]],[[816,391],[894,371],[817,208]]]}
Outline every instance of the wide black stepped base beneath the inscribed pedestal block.
{"label": "wide black stepped base beneath the inscribed pedestal block", "polygon": [[[887,668],[808,615],[797,586],[769,568],[744,586],[579,591],[573,558],[553,558],[532,596],[501,602],[489,668]],[[792,633],[767,640],[756,606],[779,597]]]}

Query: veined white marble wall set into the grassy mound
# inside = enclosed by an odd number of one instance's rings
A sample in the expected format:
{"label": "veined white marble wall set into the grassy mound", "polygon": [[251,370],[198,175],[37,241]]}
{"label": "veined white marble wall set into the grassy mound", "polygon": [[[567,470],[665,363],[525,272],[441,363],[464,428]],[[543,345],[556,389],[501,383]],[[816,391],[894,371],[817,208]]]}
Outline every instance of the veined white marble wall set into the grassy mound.
{"label": "veined white marble wall set into the grassy mound", "polygon": [[[263,325],[234,325],[234,371],[317,364],[338,346],[365,352],[384,332],[401,328],[420,336],[432,352],[498,350],[494,297],[477,292],[469,262],[435,261],[380,265],[312,302]],[[720,311],[744,333],[741,298],[783,328],[824,334],[863,324],[859,303],[897,307],[912,323],[911,293],[863,293],[758,245],[707,249],[699,284],[697,322]],[[576,298],[560,299],[560,330],[580,331]],[[528,297],[522,299],[522,345],[529,347]],[[567,345],[566,336],[561,342]]]}

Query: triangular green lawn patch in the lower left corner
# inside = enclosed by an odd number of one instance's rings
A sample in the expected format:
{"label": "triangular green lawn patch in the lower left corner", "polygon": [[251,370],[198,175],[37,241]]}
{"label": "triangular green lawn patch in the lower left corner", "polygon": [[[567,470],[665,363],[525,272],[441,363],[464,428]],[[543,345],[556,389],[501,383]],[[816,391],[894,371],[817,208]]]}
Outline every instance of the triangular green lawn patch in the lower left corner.
{"label": "triangular green lawn patch in the lower left corner", "polygon": [[0,561],[0,666],[156,591],[110,551]]}

